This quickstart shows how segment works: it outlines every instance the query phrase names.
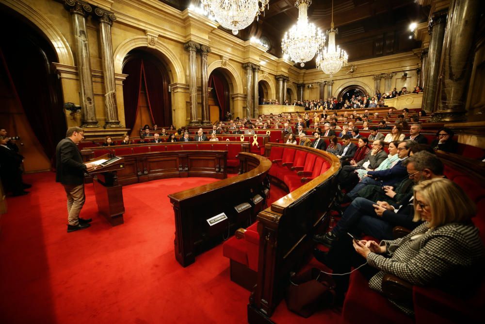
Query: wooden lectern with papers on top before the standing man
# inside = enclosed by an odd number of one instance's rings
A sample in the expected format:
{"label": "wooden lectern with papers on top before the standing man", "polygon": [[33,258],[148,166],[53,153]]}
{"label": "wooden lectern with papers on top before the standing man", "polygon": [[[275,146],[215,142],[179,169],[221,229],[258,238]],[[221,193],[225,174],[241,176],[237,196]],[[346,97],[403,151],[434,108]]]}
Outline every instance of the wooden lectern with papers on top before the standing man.
{"label": "wooden lectern with papers on top before the standing man", "polygon": [[[100,162],[105,160],[104,162]],[[112,226],[123,224],[122,186],[118,184],[117,171],[123,169],[124,158],[120,156],[111,157],[104,154],[89,161],[98,162],[96,169],[88,169],[87,173],[93,176],[94,192],[96,195],[97,208]]]}

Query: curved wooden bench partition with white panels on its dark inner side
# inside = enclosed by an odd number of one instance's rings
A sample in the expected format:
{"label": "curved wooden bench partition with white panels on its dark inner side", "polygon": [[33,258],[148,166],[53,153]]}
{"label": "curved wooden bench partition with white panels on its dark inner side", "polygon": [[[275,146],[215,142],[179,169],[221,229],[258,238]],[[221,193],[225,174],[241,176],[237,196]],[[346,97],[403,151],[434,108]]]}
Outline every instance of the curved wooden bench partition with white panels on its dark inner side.
{"label": "curved wooden bench partition with white panels on its dark inner side", "polygon": [[[168,195],[175,213],[175,256],[183,267],[194,263],[198,252],[224,235],[251,223],[251,216],[259,212],[262,202],[256,196],[265,197],[265,178],[271,162],[252,153],[239,153],[238,158],[241,174]],[[247,208],[235,208],[241,204]],[[226,214],[226,222],[209,225],[207,220],[221,213]]]}

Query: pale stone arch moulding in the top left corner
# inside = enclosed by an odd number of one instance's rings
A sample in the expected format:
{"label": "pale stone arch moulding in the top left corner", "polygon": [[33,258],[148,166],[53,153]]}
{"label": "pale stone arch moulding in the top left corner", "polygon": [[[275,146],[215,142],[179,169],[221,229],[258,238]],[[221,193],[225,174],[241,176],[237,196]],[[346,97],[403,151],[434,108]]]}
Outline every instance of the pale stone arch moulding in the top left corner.
{"label": "pale stone arch moulding in the top left corner", "polygon": [[46,35],[52,48],[57,54],[57,59],[60,64],[74,66],[74,56],[69,43],[64,35],[46,16],[33,9],[23,0],[4,0],[2,3],[23,17],[29,19],[43,34]]}

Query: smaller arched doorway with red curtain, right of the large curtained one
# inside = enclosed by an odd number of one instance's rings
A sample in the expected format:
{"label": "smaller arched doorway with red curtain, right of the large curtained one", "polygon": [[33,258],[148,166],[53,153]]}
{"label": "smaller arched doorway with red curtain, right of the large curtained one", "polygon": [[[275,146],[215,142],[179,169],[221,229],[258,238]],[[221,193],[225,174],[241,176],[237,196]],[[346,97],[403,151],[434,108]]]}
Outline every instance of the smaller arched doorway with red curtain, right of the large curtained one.
{"label": "smaller arched doorway with red curtain, right of the large curtained one", "polygon": [[230,87],[223,68],[214,69],[209,76],[209,111],[210,121],[225,120],[230,113]]}

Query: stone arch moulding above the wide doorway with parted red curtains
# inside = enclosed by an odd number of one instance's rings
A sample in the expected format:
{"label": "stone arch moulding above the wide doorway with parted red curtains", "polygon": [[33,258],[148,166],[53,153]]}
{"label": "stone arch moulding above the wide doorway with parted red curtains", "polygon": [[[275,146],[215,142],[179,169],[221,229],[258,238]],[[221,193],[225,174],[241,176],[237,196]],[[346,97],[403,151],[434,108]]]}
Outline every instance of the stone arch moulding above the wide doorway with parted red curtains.
{"label": "stone arch moulding above the wide doorway with parted red curtains", "polygon": [[114,51],[114,73],[122,73],[123,62],[129,51],[136,48],[144,48],[162,58],[167,65],[170,76],[170,83],[185,84],[185,73],[182,63],[178,56],[170,50],[165,44],[157,40],[153,46],[148,46],[148,36],[136,36],[122,42]]}

